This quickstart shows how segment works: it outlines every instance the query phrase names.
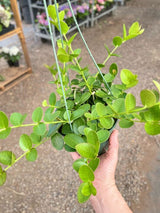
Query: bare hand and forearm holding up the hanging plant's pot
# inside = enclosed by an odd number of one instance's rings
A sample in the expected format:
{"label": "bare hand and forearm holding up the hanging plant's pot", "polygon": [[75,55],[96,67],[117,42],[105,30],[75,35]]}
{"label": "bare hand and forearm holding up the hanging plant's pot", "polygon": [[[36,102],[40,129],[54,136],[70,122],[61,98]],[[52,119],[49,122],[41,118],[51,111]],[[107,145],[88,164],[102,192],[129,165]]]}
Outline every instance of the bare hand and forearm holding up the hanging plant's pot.
{"label": "bare hand and forearm holding up the hanging plant's pot", "polygon": [[[100,156],[100,165],[95,171],[93,185],[97,189],[96,196],[90,201],[96,213],[132,213],[115,184],[115,170],[118,162],[118,131],[114,130],[110,137],[109,149]],[[74,160],[77,153],[71,153]]]}

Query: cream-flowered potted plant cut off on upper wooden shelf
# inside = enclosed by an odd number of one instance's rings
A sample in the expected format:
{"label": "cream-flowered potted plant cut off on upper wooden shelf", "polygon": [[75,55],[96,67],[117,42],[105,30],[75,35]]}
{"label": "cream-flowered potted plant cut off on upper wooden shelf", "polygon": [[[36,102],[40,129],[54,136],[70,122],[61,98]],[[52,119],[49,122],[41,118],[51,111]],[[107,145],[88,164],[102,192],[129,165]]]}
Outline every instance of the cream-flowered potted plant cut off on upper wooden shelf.
{"label": "cream-flowered potted plant cut off on upper wooden shelf", "polygon": [[14,25],[10,24],[10,19],[11,13],[0,5],[0,35],[14,29]]}

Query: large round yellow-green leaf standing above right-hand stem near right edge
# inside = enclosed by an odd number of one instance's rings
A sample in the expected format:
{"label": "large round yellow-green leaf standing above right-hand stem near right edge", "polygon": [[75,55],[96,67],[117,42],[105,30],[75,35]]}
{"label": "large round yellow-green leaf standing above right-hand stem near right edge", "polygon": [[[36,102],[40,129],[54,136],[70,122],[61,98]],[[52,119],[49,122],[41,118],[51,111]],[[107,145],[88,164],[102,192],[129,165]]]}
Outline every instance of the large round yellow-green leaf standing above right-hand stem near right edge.
{"label": "large round yellow-green leaf standing above right-hand stem near right edge", "polygon": [[156,96],[151,90],[142,90],[140,97],[144,106],[151,107],[156,103]]}

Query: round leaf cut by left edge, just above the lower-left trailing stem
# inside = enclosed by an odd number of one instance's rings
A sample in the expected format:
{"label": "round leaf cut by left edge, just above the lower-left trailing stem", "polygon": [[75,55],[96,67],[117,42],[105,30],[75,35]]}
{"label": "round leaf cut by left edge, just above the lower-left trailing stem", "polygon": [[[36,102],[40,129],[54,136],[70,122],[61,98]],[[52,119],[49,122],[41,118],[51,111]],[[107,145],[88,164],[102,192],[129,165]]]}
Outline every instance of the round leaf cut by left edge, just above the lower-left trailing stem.
{"label": "round leaf cut by left edge, just above the lower-left trailing stem", "polygon": [[0,152],[0,163],[4,165],[12,165],[15,162],[16,156],[11,151],[1,151]]}

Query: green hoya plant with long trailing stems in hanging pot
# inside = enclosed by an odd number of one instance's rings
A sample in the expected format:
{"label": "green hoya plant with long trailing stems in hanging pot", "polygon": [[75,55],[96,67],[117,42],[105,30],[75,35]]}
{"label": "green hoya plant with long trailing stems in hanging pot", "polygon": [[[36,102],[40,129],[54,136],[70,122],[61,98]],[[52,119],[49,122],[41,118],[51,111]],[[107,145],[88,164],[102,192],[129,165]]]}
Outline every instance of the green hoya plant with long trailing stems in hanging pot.
{"label": "green hoya plant with long trailing stems in hanging pot", "polygon": [[[78,189],[78,201],[85,202],[96,195],[93,185],[94,171],[99,165],[98,156],[104,152],[113,127],[119,122],[121,128],[129,128],[135,122],[142,123],[149,135],[160,134],[160,84],[153,81],[155,89],[140,91],[141,106],[127,90],[138,83],[137,75],[128,69],[122,69],[113,63],[109,70],[106,63],[123,43],[143,33],[138,22],[129,30],[123,25],[123,35],[113,38],[113,49],[106,48],[106,59],[97,64],[100,72],[90,73],[88,65],[81,65],[81,49],[74,49],[74,34],[66,36],[69,26],[64,22],[64,11],[56,12],[55,5],[48,6],[50,22],[60,30],[63,40],[57,40],[56,64],[47,66],[52,74],[56,94],[52,92],[42,107],[32,113],[32,122],[26,123],[27,114],[18,112],[7,115],[0,111],[0,139],[6,139],[15,128],[33,127],[33,131],[19,138],[21,156],[10,150],[0,152],[0,185],[6,181],[6,172],[22,157],[28,161],[37,159],[37,148],[47,141],[57,149],[77,152],[80,158],[73,163],[82,183]],[[58,65],[57,65],[58,64]],[[75,78],[70,81],[70,71]],[[114,83],[120,76],[121,83]]]}

